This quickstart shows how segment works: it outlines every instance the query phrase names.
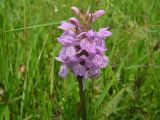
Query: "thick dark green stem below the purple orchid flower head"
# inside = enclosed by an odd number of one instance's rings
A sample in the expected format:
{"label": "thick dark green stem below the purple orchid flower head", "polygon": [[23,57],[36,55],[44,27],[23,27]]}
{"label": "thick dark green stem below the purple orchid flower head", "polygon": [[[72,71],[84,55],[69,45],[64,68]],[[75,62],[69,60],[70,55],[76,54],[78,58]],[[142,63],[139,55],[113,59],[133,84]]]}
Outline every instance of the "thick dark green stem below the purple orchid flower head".
{"label": "thick dark green stem below the purple orchid flower head", "polygon": [[80,105],[81,105],[82,120],[87,120],[86,104],[85,104],[85,90],[83,90],[82,79],[83,79],[83,77],[77,76],[77,81],[79,83],[79,95],[80,95]]}

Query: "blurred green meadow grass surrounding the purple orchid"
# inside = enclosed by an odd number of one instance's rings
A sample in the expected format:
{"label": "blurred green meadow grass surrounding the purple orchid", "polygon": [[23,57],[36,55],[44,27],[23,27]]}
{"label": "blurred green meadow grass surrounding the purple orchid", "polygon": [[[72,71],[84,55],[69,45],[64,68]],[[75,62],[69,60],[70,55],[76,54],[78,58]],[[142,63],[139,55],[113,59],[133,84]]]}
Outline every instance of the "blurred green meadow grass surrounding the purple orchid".
{"label": "blurred green meadow grass surrounding the purple orchid", "polygon": [[[160,0],[0,0],[0,120],[76,120],[75,77],[58,76],[60,21],[106,10],[110,62],[86,81],[88,120],[160,120]],[[25,66],[25,72],[19,68]]]}

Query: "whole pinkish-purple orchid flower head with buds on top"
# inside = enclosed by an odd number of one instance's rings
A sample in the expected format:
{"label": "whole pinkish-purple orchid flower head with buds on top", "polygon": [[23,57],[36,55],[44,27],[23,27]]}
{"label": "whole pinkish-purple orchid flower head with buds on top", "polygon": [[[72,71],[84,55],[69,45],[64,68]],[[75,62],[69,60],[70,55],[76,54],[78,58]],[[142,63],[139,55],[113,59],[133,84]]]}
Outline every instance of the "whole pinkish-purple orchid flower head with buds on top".
{"label": "whole pinkish-purple orchid flower head with buds on top", "polygon": [[77,7],[72,7],[72,11],[79,19],[72,17],[68,22],[62,21],[59,29],[64,30],[63,34],[57,38],[62,44],[62,49],[56,60],[62,62],[59,75],[65,77],[68,70],[75,76],[83,78],[93,78],[100,74],[100,69],[108,64],[108,57],[105,56],[105,38],[112,33],[107,28],[99,31],[90,29],[90,25],[105,11],[98,10],[84,13]]}

